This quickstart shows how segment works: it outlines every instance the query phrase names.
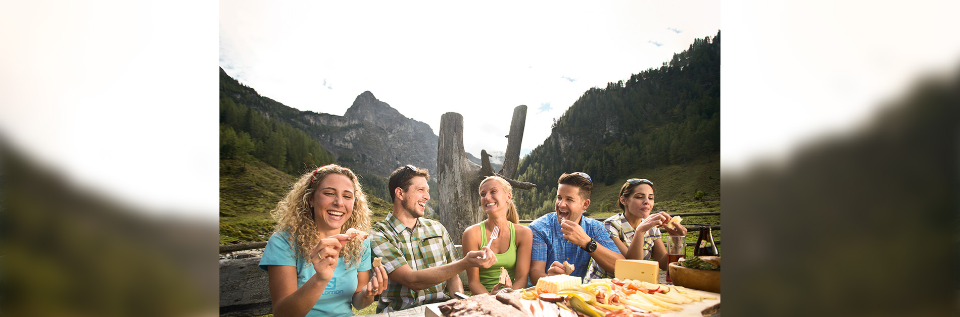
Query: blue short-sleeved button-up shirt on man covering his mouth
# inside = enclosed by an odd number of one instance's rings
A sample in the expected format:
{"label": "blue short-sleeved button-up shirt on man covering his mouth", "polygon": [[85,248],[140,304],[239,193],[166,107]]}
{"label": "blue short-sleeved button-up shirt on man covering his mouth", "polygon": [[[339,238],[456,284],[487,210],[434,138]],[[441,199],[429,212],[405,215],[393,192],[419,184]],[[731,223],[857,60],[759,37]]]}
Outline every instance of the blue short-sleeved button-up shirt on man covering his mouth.
{"label": "blue short-sleeved button-up shirt on man covering his mouth", "polygon": [[[620,253],[610,234],[604,229],[603,223],[587,216],[580,217],[580,226],[590,238],[597,241],[597,244]],[[542,215],[534,222],[530,223],[530,230],[534,233],[534,245],[530,255],[530,260],[546,261],[545,269],[550,269],[553,261],[561,263],[565,261],[573,264],[572,276],[586,277],[587,269],[590,263],[590,254],[579,245],[573,244],[564,238],[561,232],[560,221],[557,221],[557,213]],[[546,271],[544,271],[545,273]]]}

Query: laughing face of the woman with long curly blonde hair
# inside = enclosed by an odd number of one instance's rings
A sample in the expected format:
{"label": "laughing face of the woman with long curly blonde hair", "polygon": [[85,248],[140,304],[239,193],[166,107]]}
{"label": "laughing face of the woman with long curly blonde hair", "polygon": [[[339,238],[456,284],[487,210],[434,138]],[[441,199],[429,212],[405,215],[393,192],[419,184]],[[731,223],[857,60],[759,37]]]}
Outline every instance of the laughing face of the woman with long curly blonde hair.
{"label": "laughing face of the woman with long curly blonde hair", "polygon": [[313,220],[320,230],[340,229],[353,215],[353,182],[341,174],[327,174],[313,194]]}

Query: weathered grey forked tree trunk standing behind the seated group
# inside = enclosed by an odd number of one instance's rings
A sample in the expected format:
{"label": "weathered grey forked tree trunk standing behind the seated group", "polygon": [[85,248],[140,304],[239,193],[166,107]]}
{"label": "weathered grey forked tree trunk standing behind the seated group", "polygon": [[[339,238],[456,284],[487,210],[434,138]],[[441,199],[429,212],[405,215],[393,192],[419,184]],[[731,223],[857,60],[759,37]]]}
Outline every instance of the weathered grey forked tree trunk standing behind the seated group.
{"label": "weathered grey forked tree trunk standing behind the seated group", "polygon": [[[515,109],[508,141],[508,147],[516,142],[515,162],[519,159],[519,144],[523,139],[522,125],[526,121],[526,106],[520,107],[523,107],[523,113],[518,118]],[[514,134],[518,122],[521,125],[520,132]],[[483,166],[470,162],[464,150],[464,116],[459,113],[447,112],[440,117],[440,142],[437,147],[440,222],[444,224],[455,244],[462,244],[461,239],[467,227],[486,218],[480,209],[480,195],[477,193],[481,180],[487,176],[499,175],[507,179],[515,189],[529,190],[537,186],[532,183],[518,182],[494,172],[490,166],[490,155],[486,150],[483,150],[480,155]],[[505,158],[507,159],[509,158]],[[516,173],[516,163],[513,169]]]}

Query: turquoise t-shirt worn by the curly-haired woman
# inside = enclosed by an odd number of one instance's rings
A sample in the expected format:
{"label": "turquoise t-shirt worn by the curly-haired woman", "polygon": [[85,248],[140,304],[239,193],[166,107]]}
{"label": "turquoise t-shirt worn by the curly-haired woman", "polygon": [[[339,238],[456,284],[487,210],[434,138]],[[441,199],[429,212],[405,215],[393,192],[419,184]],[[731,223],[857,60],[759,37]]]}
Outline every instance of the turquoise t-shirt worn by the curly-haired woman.
{"label": "turquoise t-shirt worn by the curly-haired woman", "polygon": [[[263,250],[263,259],[260,268],[267,270],[267,265],[287,265],[297,268],[297,288],[306,283],[314,274],[312,263],[309,260],[296,258],[296,253],[290,248],[290,234],[277,232],[267,241],[267,248]],[[326,283],[324,293],[317,304],[310,308],[307,316],[353,316],[350,302],[353,301],[353,292],[357,290],[357,271],[370,271],[370,240],[363,241],[363,255],[359,266],[347,267],[344,258],[337,260],[337,268],[333,270],[333,279]],[[306,264],[311,264],[309,267]]]}

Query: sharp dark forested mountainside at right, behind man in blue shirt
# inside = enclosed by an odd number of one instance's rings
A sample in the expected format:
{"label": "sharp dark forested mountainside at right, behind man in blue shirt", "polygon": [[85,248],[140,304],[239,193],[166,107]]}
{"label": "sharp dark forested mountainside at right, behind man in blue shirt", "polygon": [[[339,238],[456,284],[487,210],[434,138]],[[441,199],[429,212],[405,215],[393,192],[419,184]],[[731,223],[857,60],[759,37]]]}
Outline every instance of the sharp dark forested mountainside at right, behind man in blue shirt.
{"label": "sharp dark forested mountainside at right, behind man in blue shirt", "polygon": [[[612,186],[666,166],[697,162],[698,169],[710,170],[703,165],[715,163],[719,151],[717,32],[695,40],[658,69],[584,93],[556,121],[550,137],[520,162],[518,179],[539,188],[517,191],[517,208],[523,218],[552,212],[557,178],[564,172],[586,171],[595,185]],[[718,196],[718,176],[703,177],[691,188],[716,189],[705,194]]]}

